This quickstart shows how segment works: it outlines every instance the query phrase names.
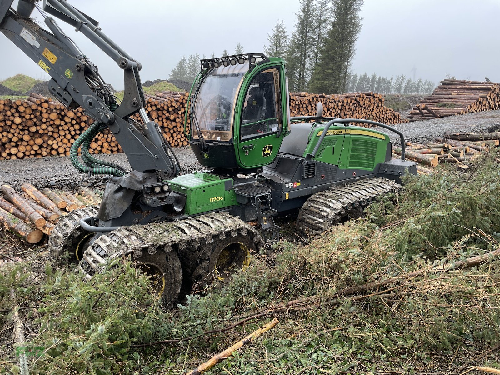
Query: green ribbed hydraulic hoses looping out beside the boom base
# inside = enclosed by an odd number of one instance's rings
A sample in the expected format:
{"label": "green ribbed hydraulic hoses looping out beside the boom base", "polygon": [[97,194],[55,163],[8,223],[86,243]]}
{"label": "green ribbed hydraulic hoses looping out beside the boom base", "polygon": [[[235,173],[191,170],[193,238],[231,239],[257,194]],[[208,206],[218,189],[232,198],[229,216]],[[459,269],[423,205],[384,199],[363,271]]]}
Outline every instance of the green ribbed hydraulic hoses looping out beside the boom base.
{"label": "green ribbed hydraulic hoses looping out beside the boom base", "polygon": [[[102,131],[106,125],[103,125],[100,122],[94,122],[91,124],[81,135],[76,139],[69,149],[69,159],[71,160],[71,164],[78,169],[80,172],[84,173],[90,173],[90,174],[112,174],[115,176],[123,176],[125,175],[124,171],[120,170],[123,169],[120,167],[120,169],[117,169],[116,167],[109,166],[109,164],[115,165],[114,163],[108,163],[107,161],[99,160],[96,159],[95,157],[91,156],[88,153],[88,148],[85,148],[85,146],[89,145],[92,139]],[[85,164],[88,162],[90,165],[94,166],[87,166],[84,165],[78,160],[78,148],[81,147],[81,154],[82,154],[82,159],[85,161]],[[85,150],[86,152],[84,152]],[[83,156],[84,155],[84,156]],[[108,166],[106,166],[106,164]]]}

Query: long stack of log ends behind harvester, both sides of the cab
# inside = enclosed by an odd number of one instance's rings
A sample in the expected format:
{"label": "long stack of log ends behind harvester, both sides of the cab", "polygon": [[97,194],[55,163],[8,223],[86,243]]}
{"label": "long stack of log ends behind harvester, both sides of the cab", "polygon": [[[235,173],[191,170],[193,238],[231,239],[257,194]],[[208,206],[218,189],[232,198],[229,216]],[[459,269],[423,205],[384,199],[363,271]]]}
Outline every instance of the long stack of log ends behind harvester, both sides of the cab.
{"label": "long stack of log ends behind harvester, both sides of the cab", "polygon": [[[161,91],[146,95],[145,110],[162,128],[172,147],[188,144],[184,134],[187,92]],[[342,95],[290,93],[292,116],[315,115],[316,103],[323,103],[328,117],[366,118],[386,124],[404,122],[399,113],[383,105],[382,95],[357,92]],[[137,114],[133,116],[137,121]],[[51,155],[69,155],[78,136],[93,122],[83,109],[66,109],[61,103],[37,94],[26,100],[0,99],[0,160]],[[189,133],[187,117],[186,133]],[[109,130],[90,143],[90,153],[118,153],[121,147]]]}

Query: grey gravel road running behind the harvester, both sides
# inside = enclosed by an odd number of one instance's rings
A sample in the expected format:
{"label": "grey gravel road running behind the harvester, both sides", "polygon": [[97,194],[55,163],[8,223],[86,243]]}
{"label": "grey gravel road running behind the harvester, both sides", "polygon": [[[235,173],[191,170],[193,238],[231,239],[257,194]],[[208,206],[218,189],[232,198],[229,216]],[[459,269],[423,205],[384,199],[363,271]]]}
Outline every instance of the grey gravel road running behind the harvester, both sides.
{"label": "grey gravel road running behind the harvester, both sides", "polygon": [[[500,126],[500,110],[469,113],[460,116],[436,118],[393,125],[400,130],[405,140],[423,142],[441,136],[447,131],[453,132],[483,132]],[[400,144],[399,136],[388,132],[392,142]],[[203,169],[189,147],[174,149],[181,166],[181,174]],[[102,154],[97,157],[130,168],[124,154]],[[77,171],[69,161],[68,156],[50,156],[44,158],[0,160],[0,183],[9,183],[19,187],[24,182],[30,182],[37,188],[57,187],[73,189],[76,186],[104,185],[102,176],[88,176]]]}

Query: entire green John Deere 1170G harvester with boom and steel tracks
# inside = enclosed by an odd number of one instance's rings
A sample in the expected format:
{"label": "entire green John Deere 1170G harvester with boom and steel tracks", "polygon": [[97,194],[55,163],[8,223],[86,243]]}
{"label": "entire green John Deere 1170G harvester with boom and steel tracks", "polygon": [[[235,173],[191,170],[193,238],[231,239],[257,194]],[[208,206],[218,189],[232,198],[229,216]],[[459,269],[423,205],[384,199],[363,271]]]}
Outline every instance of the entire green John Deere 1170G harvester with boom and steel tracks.
{"label": "entire green John Deere 1170G harvester with boom and steel tracks", "polygon": [[[290,117],[285,61],[244,53],[200,61],[188,135],[207,170],[178,175],[177,158],[144,109],[140,63],[65,0],[19,0],[15,9],[12,2],[0,0],[0,30],[51,75],[49,90],[57,100],[83,107],[95,121],[74,142],[70,158],[82,172],[109,175],[102,203],[98,211],[89,207],[61,217],[48,244],[56,257],[78,260],[86,277],[129,256],[153,275],[168,304],[182,283],[223,279],[246,267],[262,237],[278,237],[274,217],[298,214],[301,231],[320,233],[359,216],[373,197],[397,189],[403,174],[416,173],[416,163],[404,159],[402,133],[388,125],[321,117],[320,103],[316,116]],[[49,31],[30,18],[34,7]],[[47,13],[82,32],[123,69],[121,103]],[[135,113],[142,121],[131,118]],[[387,134],[353,122],[397,133],[401,159],[391,160]],[[132,170],[89,154],[89,143],[104,129]]]}

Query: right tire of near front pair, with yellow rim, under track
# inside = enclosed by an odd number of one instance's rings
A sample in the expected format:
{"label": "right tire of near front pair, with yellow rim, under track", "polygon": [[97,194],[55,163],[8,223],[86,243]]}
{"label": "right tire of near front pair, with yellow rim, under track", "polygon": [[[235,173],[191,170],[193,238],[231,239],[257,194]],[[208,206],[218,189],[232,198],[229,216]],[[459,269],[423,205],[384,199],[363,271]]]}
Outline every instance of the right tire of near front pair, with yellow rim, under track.
{"label": "right tire of near front pair, with yellow rim, under track", "polygon": [[216,240],[208,263],[208,276],[219,281],[231,280],[235,271],[248,268],[250,254],[255,251],[255,243],[248,235]]}

